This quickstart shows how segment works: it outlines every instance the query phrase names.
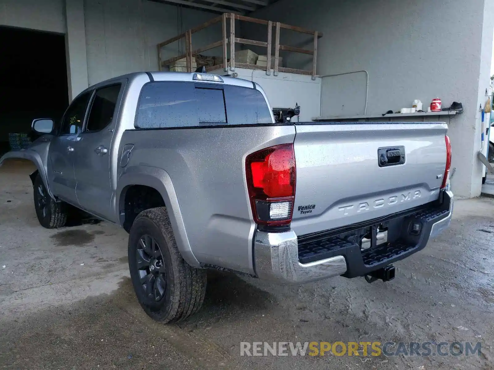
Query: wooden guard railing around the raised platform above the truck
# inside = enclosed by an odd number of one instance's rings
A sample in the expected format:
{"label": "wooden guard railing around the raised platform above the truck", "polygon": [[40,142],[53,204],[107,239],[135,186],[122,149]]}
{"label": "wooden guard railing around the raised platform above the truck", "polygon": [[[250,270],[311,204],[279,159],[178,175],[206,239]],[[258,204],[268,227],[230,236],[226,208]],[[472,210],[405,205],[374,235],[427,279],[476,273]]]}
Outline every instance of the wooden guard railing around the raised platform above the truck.
{"label": "wooden guard railing around the raised platform above the truck", "polygon": [[[230,35],[228,37],[227,35],[227,19],[230,20]],[[245,22],[250,22],[250,23],[257,23],[257,24],[262,24],[267,26],[267,42],[264,41],[257,41],[257,40],[250,40],[247,38],[239,38],[235,37],[235,20],[239,21],[245,21]],[[205,29],[208,26],[211,26],[215,23],[221,22],[222,24],[222,31],[223,31],[223,37],[221,40],[210,43],[209,45],[200,47],[198,49],[193,50],[192,49],[192,34],[201,31]],[[272,58],[272,34],[273,34],[273,27],[275,27],[275,62],[274,62],[274,70],[273,73],[274,75],[277,75],[278,72],[287,72],[287,73],[294,73],[294,74],[307,74],[307,75],[312,75],[312,78],[314,79],[316,77],[316,65],[317,65],[317,40],[319,37],[322,37],[323,34],[319,33],[317,31],[310,31],[306,30],[301,27],[296,27],[296,26],[289,26],[284,23],[280,22],[272,22],[272,21],[266,21],[264,19],[257,19],[257,18],[251,18],[251,17],[246,17],[243,15],[238,15],[235,13],[224,13],[223,15],[213,18],[206,23],[203,23],[195,28],[191,28],[190,30],[185,31],[184,33],[177,35],[175,37],[172,37],[166,41],[160,42],[157,47],[158,47],[158,66],[160,71],[162,70],[162,67],[165,67],[169,65],[170,63],[176,62],[179,59],[186,59],[186,68],[187,72],[192,72],[192,58],[194,55],[200,54],[206,50],[214,49],[216,47],[222,46],[223,47],[223,63],[216,65],[216,66],[210,66],[206,68],[206,72],[210,71],[215,71],[218,69],[224,69],[225,71],[235,71],[235,68],[248,68],[248,69],[264,69],[264,67],[260,67],[257,65],[253,64],[247,64],[247,63],[236,63],[235,62],[235,44],[236,43],[241,43],[241,44],[247,44],[247,45],[255,45],[255,46],[261,46],[266,48],[266,56],[267,56],[267,63],[266,63],[266,74],[271,74],[271,58]],[[293,46],[288,46],[288,45],[281,45],[280,44],[280,31],[281,29],[287,29],[287,30],[292,30],[296,32],[300,32],[303,34],[308,34],[308,35],[313,35],[314,36],[314,48],[312,50],[308,49],[302,49],[299,47],[293,47]],[[175,57],[169,58],[167,60],[162,60],[161,59],[161,49],[168,45],[171,42],[181,40],[182,38],[185,38],[185,53],[181,55],[177,55]],[[233,42],[231,42],[233,40]],[[230,44],[230,61],[228,62],[228,44]],[[294,68],[284,68],[279,66],[279,56],[280,56],[280,50],[284,51],[290,51],[290,52],[295,52],[295,53],[301,53],[301,54],[308,54],[312,55],[312,70],[306,71],[306,70],[300,70],[300,69],[294,69]]]}

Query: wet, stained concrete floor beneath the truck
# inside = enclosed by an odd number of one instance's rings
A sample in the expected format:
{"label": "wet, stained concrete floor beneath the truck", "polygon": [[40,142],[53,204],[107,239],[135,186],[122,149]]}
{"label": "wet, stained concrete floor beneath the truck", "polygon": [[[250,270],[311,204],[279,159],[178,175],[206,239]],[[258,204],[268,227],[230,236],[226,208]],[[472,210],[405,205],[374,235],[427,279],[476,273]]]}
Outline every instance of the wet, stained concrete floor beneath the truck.
{"label": "wet, stained concrete floor beneath the truck", "polygon": [[[211,272],[202,311],[161,325],[134,297],[124,230],[42,228],[31,170],[0,167],[1,369],[494,369],[494,199],[457,201],[450,229],[391,282],[280,287]],[[482,354],[239,356],[241,341],[320,340],[480,341]]]}

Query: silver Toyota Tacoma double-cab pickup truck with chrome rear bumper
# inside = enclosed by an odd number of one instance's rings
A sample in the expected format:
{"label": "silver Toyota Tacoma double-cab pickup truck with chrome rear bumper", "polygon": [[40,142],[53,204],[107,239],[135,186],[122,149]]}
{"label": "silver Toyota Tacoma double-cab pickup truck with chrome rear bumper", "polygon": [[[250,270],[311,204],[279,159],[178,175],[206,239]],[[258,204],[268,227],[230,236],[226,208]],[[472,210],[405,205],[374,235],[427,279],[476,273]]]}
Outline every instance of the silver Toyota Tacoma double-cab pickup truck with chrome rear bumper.
{"label": "silver Toyota Tacoma double-cab pickup truck with chrome rear bumper", "polygon": [[26,158],[42,226],[73,206],[129,232],[152,318],[196,312],[206,268],[285,283],[391,280],[450,223],[447,125],[276,123],[262,88],[214,74],[135,73],[84,90]]}

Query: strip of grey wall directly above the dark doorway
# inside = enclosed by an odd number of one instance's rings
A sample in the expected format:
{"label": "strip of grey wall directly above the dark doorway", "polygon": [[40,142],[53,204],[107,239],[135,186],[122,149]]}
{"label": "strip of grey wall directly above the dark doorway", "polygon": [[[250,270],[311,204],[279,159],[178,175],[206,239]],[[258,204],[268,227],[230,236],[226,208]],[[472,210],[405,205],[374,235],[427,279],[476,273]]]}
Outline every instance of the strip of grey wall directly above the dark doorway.
{"label": "strip of grey wall directly above the dark doorway", "polygon": [[65,0],[1,0],[0,25],[65,33]]}

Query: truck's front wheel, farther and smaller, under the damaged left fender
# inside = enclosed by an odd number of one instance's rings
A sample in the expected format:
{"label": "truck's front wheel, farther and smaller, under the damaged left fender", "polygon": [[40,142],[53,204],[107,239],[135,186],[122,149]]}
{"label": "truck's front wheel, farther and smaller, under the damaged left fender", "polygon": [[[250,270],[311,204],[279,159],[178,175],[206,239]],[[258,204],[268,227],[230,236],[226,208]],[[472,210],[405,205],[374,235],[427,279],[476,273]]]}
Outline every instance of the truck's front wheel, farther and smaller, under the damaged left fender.
{"label": "truck's front wheel, farther and smaller, under the damaged left fender", "polygon": [[55,202],[41,180],[40,174],[34,181],[34,206],[41,226],[47,229],[62,227],[67,222],[67,204]]}

